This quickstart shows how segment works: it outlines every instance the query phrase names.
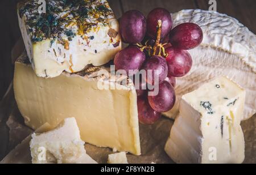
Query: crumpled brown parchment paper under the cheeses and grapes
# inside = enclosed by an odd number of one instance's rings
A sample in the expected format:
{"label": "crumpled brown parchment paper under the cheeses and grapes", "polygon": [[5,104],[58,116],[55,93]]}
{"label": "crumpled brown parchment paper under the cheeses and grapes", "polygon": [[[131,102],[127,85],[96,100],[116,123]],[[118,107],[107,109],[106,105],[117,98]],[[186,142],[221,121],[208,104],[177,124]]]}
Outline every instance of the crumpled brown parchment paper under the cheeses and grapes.
{"label": "crumpled brown parchment paper under the cheeses and grapes", "polygon": [[[14,105],[11,105],[11,109],[9,109],[9,105],[6,104]],[[24,125],[23,117],[19,113],[14,100],[13,88],[9,89],[5,99],[2,101],[0,112],[7,114],[7,116],[0,116],[0,138],[5,138],[0,141],[0,153],[6,155],[33,131]],[[128,162],[139,164],[152,162],[174,163],[164,152],[164,144],[170,134],[173,123],[173,120],[162,116],[154,125],[140,125],[139,133],[142,155],[135,156],[127,153]],[[256,115],[243,121],[241,125],[245,136],[245,161],[243,161],[243,163],[256,163]],[[31,163],[28,142],[23,147],[27,147],[25,149],[26,151],[15,153],[17,156],[13,156],[11,163]],[[100,148],[88,143],[85,144],[85,149],[88,155],[98,163],[106,163],[108,155],[113,153],[113,150],[110,148]],[[19,159],[23,159],[23,157],[26,157],[26,159],[20,161]],[[0,157],[0,160],[1,159],[2,157]]]}

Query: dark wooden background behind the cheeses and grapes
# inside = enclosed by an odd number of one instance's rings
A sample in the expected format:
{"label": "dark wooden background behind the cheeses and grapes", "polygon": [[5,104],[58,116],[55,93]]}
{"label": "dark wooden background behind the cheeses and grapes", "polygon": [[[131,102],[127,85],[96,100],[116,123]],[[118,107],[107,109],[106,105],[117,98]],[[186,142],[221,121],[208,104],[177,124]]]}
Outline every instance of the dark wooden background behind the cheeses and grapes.
{"label": "dark wooden background behind the cheeses and grapes", "polygon": [[[13,79],[11,49],[20,38],[16,3],[20,0],[0,0],[0,100]],[[188,8],[208,10],[209,0],[108,0],[115,15],[119,18],[123,12],[138,9],[147,15],[155,7],[167,8],[176,12]],[[217,11],[237,18],[252,32],[256,33],[255,0],[216,0]]]}

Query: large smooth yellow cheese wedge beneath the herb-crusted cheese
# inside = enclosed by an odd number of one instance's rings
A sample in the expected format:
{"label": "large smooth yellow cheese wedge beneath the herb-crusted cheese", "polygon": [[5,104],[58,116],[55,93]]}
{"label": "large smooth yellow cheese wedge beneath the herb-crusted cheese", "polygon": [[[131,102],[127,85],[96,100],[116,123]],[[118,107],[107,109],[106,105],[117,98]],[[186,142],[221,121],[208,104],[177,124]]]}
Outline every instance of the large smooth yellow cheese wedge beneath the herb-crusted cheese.
{"label": "large smooth yellow cheese wedge beneath the herb-crusted cheese", "polygon": [[[26,125],[54,127],[75,117],[86,143],[141,154],[136,91],[132,82],[119,82],[127,77],[113,79],[109,67],[91,66],[77,74],[39,78],[27,59],[20,56],[14,72],[14,95]],[[111,89],[101,89],[104,84]]]}

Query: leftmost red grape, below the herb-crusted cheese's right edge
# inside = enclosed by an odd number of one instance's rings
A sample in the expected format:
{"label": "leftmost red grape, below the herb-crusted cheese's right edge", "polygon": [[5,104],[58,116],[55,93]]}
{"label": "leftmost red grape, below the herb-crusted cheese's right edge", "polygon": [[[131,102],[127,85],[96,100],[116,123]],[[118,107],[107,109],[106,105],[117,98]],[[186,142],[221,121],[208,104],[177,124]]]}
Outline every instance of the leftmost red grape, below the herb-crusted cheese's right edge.
{"label": "leftmost red grape, below the herb-crusted cheese's right edge", "polygon": [[139,70],[145,59],[145,54],[137,46],[129,45],[115,54],[115,70],[125,70],[127,75],[134,75],[131,72],[129,74],[128,71]]}

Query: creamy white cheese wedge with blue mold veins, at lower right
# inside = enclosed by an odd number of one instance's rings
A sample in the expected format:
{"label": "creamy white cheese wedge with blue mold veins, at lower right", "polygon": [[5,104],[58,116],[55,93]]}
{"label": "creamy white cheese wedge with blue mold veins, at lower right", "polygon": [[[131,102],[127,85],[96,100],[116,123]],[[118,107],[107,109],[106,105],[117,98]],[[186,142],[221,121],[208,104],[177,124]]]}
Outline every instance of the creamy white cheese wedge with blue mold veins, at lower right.
{"label": "creamy white cheese wedge with blue mold veins, at lower right", "polygon": [[164,150],[176,163],[242,163],[245,91],[225,76],[180,100]]}

